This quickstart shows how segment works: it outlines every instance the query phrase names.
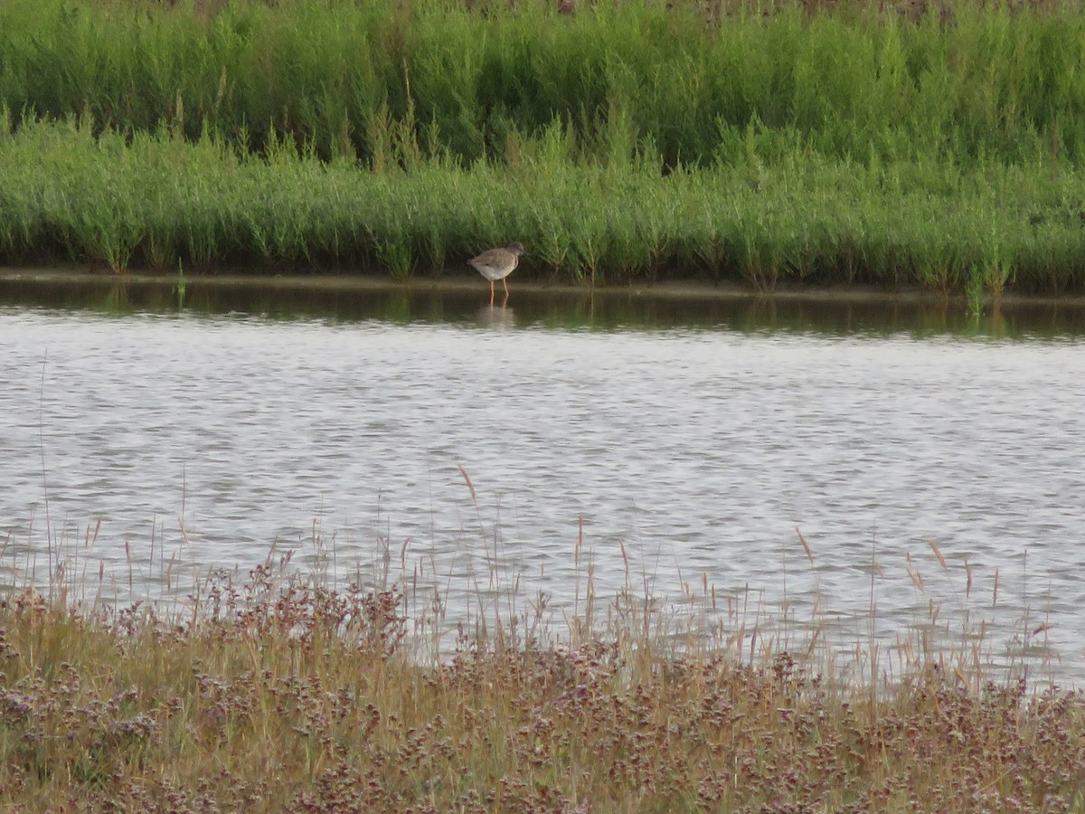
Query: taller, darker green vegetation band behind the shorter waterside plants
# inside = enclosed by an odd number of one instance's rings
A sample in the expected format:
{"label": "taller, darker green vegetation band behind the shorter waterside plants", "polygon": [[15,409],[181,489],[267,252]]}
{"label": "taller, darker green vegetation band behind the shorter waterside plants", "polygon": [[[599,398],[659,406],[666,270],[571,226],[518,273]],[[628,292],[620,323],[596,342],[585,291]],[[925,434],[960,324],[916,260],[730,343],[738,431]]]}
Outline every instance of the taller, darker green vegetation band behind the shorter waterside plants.
{"label": "taller, darker green vegetation band behind the shorter waterside plants", "polygon": [[[668,8],[669,7],[669,8]],[[427,157],[502,158],[552,122],[603,158],[615,122],[664,166],[809,148],[958,163],[1078,161],[1085,17],[962,0],[918,18],[845,3],[804,13],[737,4],[527,0],[265,3],[9,0],[0,102],[99,127],[204,128],[261,151],[272,132],[318,155],[385,158],[380,122]]]}

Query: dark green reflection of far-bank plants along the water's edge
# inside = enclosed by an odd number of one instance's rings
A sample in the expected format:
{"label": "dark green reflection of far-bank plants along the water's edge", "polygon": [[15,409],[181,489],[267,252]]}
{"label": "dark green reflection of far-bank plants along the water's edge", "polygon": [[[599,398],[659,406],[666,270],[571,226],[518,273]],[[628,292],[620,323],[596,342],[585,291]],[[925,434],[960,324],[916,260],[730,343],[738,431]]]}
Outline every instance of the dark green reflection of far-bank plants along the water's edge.
{"label": "dark green reflection of far-bank plants along the water's edge", "polygon": [[[474,281],[474,278],[468,278]],[[226,283],[190,277],[170,282],[141,277],[75,277],[48,280],[0,279],[0,304],[192,314],[258,314],[276,319],[383,319],[395,322],[475,323],[488,294],[484,289],[407,287],[388,283],[354,287],[349,281],[315,278],[253,279]],[[848,300],[718,295],[711,289],[687,295],[615,290],[521,288],[515,323],[565,330],[707,329],[740,332],[782,331],[815,335],[992,338],[1085,335],[1085,305],[1074,303],[991,302],[969,311],[963,300],[942,296]]]}

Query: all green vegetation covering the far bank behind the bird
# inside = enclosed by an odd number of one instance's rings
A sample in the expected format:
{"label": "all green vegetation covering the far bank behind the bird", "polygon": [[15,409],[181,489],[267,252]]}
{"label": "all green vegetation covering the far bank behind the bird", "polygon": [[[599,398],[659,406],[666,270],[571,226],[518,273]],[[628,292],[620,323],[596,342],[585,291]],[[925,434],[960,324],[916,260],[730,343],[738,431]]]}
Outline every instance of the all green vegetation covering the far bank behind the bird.
{"label": "all green vegetation covering the far bank behind the bird", "polygon": [[0,5],[0,262],[1085,290],[1073,4]]}

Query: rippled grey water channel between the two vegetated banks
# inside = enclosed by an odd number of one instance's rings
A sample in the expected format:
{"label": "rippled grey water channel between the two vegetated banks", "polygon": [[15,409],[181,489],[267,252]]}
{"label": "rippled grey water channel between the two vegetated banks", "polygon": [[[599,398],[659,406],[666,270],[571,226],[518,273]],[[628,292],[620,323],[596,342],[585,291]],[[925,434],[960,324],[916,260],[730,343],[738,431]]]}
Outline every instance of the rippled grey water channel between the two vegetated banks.
{"label": "rippled grey water channel between the two vegetated banks", "polygon": [[61,550],[148,598],[275,543],[559,612],[590,560],[603,597],[707,586],[842,639],[875,606],[885,645],[936,612],[984,622],[996,663],[1085,677],[1073,308],[87,291],[0,300],[0,582]]}

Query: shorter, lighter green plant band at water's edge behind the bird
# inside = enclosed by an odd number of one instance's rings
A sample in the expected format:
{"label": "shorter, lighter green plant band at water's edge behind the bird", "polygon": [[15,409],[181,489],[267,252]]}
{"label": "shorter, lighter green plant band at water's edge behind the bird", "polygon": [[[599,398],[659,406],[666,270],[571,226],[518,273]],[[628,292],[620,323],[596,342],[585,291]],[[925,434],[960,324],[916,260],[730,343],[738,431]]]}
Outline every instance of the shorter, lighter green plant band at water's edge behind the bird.
{"label": "shorter, lighter green plant band at water's edge behind the bird", "polygon": [[993,296],[1085,285],[1085,183],[1067,164],[884,164],[804,151],[664,176],[650,143],[607,164],[577,160],[576,145],[556,122],[501,165],[430,160],[373,171],[290,140],[257,156],[166,125],[9,125],[0,262],[404,278],[518,239],[531,251],[518,274],[561,281],[692,277],[766,291],[867,283]]}

